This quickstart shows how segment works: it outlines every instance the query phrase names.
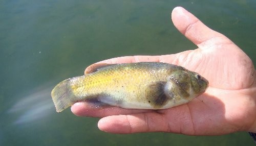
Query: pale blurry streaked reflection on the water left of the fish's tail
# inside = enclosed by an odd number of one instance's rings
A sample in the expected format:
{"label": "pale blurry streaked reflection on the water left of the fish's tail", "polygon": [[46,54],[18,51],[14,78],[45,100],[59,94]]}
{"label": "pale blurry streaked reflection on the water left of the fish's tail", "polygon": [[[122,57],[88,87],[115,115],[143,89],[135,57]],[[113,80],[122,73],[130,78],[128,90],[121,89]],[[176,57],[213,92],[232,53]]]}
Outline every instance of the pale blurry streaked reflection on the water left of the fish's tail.
{"label": "pale blurry streaked reflection on the water left of the fish's tail", "polygon": [[52,87],[49,84],[32,89],[29,94],[19,97],[7,112],[8,114],[19,113],[13,124],[31,123],[40,120],[52,113],[54,108],[51,97]]}

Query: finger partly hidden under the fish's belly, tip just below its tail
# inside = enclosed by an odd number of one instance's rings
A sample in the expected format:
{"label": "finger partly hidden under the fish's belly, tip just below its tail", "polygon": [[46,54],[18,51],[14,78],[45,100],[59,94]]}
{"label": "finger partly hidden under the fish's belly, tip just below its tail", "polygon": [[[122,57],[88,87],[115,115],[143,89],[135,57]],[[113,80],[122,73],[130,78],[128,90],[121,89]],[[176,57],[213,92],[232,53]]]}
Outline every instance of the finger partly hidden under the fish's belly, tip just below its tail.
{"label": "finger partly hidden under the fish's belly, tip just below its tail", "polygon": [[98,107],[90,103],[79,102],[72,105],[71,111],[77,116],[104,117],[109,115],[151,112],[152,110],[123,109],[114,106]]}

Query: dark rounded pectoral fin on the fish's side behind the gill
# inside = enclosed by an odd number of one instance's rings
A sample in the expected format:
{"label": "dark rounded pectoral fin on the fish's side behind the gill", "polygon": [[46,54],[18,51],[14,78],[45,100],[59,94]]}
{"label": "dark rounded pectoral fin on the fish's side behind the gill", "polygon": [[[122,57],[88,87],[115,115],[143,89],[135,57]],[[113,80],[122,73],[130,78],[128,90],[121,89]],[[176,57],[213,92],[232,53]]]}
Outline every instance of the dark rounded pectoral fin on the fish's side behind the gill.
{"label": "dark rounded pectoral fin on the fish's side behind the gill", "polygon": [[164,106],[169,100],[164,92],[166,82],[155,82],[147,86],[145,96],[147,102],[154,108]]}

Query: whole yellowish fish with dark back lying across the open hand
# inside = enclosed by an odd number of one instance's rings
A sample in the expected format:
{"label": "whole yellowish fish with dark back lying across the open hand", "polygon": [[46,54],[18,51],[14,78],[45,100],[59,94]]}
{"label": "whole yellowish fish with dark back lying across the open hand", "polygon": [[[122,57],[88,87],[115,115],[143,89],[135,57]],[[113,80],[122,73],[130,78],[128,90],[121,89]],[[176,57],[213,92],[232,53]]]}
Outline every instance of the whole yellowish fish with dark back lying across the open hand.
{"label": "whole yellowish fish with dark back lying across the open hand", "polygon": [[83,76],[57,84],[51,92],[57,112],[76,102],[124,109],[167,109],[201,95],[209,82],[174,64],[137,62],[95,64]]}

